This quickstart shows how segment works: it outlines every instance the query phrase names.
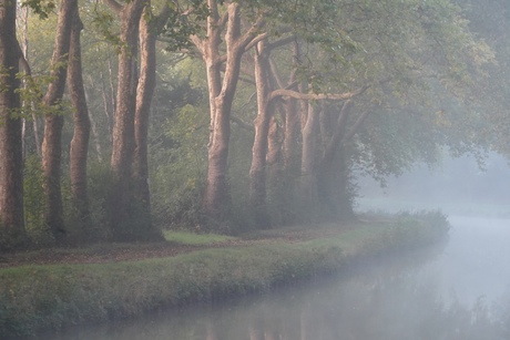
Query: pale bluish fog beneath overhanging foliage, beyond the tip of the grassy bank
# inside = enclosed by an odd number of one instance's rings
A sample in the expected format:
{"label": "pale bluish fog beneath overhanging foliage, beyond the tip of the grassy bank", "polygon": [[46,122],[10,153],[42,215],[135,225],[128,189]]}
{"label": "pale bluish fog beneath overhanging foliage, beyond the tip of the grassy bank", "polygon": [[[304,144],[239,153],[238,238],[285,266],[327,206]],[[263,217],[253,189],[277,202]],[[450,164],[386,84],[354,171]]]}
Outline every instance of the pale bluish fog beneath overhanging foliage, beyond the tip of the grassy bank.
{"label": "pale bluish fog beneath overhanging foliage, beyond the tip of the grassy bank", "polygon": [[429,167],[389,177],[386,186],[368,177],[358,181],[358,210],[441,209],[449,215],[510,217],[510,166],[490,154],[482,168],[472,156],[446,158]]}

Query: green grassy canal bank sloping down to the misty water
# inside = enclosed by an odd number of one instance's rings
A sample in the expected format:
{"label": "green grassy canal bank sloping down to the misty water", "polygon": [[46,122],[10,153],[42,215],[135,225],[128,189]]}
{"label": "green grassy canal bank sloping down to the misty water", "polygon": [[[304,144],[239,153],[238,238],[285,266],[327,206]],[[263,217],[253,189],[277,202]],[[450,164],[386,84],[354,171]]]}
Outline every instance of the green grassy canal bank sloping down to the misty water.
{"label": "green grassy canal bank sloping down to the misty water", "polygon": [[[268,241],[215,246],[165,258],[3,268],[0,338],[262,291],[341,269],[363,257],[429,244],[447,230],[439,214],[405,215],[297,241],[282,237],[288,229],[278,229],[272,231],[278,237]],[[267,239],[267,235],[251,235],[252,240],[257,237]]]}

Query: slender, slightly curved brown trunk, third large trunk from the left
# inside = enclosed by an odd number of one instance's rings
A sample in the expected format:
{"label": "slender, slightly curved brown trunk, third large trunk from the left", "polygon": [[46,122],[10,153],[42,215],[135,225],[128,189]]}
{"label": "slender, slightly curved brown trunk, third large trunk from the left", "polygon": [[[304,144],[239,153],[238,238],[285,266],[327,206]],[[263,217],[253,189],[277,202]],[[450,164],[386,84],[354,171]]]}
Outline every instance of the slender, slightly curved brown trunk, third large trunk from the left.
{"label": "slender, slightly curved brown trunk, third large trunk from the left", "polygon": [[80,32],[83,24],[78,7],[71,31],[71,45],[69,50],[68,83],[71,102],[73,105],[74,134],[71,141],[71,195],[76,217],[84,225],[90,221],[89,195],[86,187],[86,159],[89,154],[90,120],[86,107],[85,90],[83,87]]}

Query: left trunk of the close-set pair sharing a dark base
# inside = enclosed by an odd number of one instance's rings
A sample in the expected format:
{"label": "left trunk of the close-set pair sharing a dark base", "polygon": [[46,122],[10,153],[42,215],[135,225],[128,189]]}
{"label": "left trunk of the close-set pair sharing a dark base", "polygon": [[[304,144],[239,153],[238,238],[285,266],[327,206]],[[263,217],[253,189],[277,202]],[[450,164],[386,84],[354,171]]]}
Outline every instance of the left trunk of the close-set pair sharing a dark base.
{"label": "left trunk of the close-set pair sharing a dark base", "polygon": [[136,63],[139,24],[144,1],[133,0],[120,8],[119,83],[114,112],[111,169],[113,187],[109,203],[110,227],[114,240],[133,240],[136,226],[132,220],[131,174],[134,154],[134,112],[136,100]]}

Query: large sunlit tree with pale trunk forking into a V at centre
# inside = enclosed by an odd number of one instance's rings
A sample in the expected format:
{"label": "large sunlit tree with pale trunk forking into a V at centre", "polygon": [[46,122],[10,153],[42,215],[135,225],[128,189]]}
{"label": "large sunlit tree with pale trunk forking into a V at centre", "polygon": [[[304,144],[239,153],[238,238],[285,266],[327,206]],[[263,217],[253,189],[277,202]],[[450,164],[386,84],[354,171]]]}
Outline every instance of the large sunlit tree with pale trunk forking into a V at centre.
{"label": "large sunlit tree with pale trunk forking into a V at centre", "polygon": [[[243,55],[259,41],[272,34],[278,34],[279,30],[286,32],[292,25],[306,30],[310,28],[309,22],[315,27],[320,20],[320,14],[326,13],[330,8],[330,3],[318,1],[318,4],[316,2],[310,4],[307,1],[299,1],[298,4],[289,8],[280,1],[238,3],[211,0],[207,4],[211,14],[207,19],[206,38],[195,35],[193,42],[205,63],[211,107],[208,169],[203,204],[208,217],[221,220],[230,206],[227,183],[230,121]],[[306,16],[309,9],[313,10],[313,14],[307,17],[307,22],[298,20],[296,23],[295,17]],[[318,14],[314,17],[315,13]],[[224,34],[223,39],[222,34]],[[225,53],[222,54],[222,51]],[[267,125],[266,122],[261,123],[261,127]],[[262,140],[264,137],[261,136],[258,141]],[[257,177],[262,172],[254,168],[252,173],[254,182],[262,183]],[[262,189],[257,185],[253,187]],[[262,197],[255,193],[252,195],[254,199],[257,196]]]}

